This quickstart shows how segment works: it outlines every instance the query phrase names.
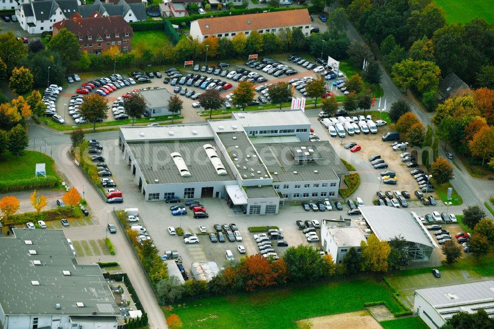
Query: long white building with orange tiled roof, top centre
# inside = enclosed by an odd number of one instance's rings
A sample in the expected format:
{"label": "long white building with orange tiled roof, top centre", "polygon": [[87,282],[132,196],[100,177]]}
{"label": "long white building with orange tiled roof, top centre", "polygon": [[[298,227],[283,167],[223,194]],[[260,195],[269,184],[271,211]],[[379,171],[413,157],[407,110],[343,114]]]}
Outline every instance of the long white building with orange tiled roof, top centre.
{"label": "long white building with orange tiled roof, top centre", "polygon": [[258,14],[201,18],[191,22],[190,36],[198,41],[208,37],[232,39],[239,33],[247,37],[252,31],[279,33],[283,30],[300,28],[306,36],[310,34],[312,22],[307,9],[263,12]]}

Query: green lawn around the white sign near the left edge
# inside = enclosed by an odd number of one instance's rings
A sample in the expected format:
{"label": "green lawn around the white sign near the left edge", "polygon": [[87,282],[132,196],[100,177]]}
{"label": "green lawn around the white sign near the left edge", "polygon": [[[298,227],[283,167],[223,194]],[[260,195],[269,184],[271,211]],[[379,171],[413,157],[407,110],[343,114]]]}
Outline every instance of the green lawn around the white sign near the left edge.
{"label": "green lawn around the white sign near the left edge", "polygon": [[[41,151],[44,152],[44,143],[41,145],[38,142],[36,150],[39,151],[40,146]],[[0,181],[33,178],[35,176],[36,164],[41,163],[46,164],[46,174],[48,176],[57,177],[58,175],[54,169],[55,162],[49,156],[50,149],[50,145],[46,146],[46,153],[48,155],[26,150],[24,151],[25,155],[19,157],[11,155],[10,152],[5,152],[0,159]]]}

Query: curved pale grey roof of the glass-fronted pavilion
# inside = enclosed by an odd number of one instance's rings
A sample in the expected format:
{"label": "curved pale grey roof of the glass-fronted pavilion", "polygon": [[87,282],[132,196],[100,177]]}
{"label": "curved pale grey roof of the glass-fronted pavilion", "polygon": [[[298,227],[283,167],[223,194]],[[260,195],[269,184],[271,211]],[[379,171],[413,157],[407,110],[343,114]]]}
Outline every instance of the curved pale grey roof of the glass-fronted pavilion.
{"label": "curved pale grey roof of the glass-fronted pavilion", "polygon": [[361,206],[362,216],[381,241],[401,235],[408,242],[437,247],[422,223],[410,211],[386,206]]}

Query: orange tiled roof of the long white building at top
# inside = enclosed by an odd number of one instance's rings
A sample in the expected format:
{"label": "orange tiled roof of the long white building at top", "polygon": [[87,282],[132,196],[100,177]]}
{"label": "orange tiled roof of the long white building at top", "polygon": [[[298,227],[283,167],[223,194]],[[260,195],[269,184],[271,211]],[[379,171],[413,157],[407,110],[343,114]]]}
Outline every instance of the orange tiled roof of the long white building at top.
{"label": "orange tiled roof of the long white building at top", "polygon": [[[263,12],[197,20],[203,35],[241,32],[312,24],[307,9]],[[206,27],[206,25],[208,27]]]}

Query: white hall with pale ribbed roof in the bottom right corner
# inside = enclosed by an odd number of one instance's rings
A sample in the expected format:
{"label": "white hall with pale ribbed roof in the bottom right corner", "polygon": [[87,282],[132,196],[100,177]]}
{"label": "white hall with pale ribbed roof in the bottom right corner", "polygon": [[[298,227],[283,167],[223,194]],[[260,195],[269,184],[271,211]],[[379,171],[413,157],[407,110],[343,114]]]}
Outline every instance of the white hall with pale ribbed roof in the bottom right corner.
{"label": "white hall with pale ribbed roof in the bottom right corner", "polygon": [[444,326],[459,312],[471,314],[478,310],[493,316],[493,281],[415,290],[413,311],[432,329]]}

